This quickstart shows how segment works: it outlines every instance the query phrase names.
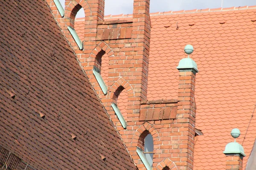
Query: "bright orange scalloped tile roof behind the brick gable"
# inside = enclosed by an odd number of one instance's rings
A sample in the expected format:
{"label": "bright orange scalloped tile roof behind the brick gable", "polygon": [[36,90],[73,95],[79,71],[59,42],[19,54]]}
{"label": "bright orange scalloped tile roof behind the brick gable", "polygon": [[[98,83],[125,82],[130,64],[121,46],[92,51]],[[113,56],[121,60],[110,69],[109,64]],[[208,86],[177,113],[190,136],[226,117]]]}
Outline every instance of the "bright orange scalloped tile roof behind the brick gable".
{"label": "bright orange scalloped tile roof behind the brick gable", "polygon": [[223,151],[235,127],[247,155],[243,167],[250,156],[256,136],[254,117],[250,121],[256,104],[255,18],[256,6],[151,14],[148,100],[177,98],[176,67],[186,57],[185,45],[195,48],[196,128],[204,133],[196,137],[195,170],[225,169]]}

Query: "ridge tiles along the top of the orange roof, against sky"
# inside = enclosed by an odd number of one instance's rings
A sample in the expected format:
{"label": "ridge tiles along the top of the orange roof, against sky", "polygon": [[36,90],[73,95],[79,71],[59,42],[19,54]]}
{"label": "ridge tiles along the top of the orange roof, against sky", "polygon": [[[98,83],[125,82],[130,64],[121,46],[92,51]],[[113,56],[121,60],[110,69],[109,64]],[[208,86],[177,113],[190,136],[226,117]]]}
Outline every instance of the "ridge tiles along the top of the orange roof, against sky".
{"label": "ridge tiles along the top of the orange roof, against sky", "polygon": [[[229,7],[229,8],[206,8],[206,9],[192,9],[192,10],[180,10],[180,11],[165,11],[165,12],[154,12],[150,13],[150,16],[156,15],[169,15],[169,14],[192,14],[200,12],[219,12],[219,11],[236,11],[236,10],[245,10],[245,9],[256,9],[256,6],[239,6],[239,7]],[[129,18],[132,17],[132,14],[118,14],[118,15],[106,15],[104,19],[111,18]],[[85,17],[77,18],[76,21],[83,20]]]}

